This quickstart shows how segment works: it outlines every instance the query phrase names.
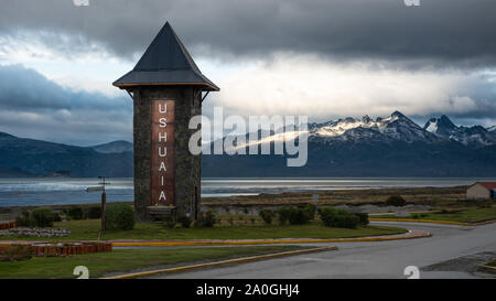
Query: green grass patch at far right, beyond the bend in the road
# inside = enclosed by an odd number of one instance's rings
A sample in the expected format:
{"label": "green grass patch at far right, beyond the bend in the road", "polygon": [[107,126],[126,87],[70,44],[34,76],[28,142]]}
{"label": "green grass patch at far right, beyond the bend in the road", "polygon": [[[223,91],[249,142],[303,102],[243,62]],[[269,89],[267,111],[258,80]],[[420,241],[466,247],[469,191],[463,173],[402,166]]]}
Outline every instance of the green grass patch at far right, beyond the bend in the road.
{"label": "green grass patch at far right, beyond the bend in the road", "polygon": [[[370,217],[380,218],[398,218],[393,215],[375,215]],[[400,217],[401,218],[401,217]],[[409,217],[407,217],[409,218]],[[410,217],[411,218],[411,217]],[[496,219],[496,207],[490,208],[470,208],[453,213],[422,213],[419,214],[420,219],[432,219],[432,221],[449,221],[449,222],[462,222],[462,223],[477,223],[485,222],[489,219]]]}

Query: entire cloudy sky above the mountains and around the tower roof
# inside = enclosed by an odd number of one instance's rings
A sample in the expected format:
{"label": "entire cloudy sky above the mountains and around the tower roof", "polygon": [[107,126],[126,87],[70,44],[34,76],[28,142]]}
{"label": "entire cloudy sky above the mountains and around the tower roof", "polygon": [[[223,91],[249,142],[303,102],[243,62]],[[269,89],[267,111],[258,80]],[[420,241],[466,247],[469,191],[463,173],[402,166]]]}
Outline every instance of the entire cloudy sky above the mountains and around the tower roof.
{"label": "entire cloudy sky above the mountains and around the tower roof", "polygon": [[220,87],[204,111],[496,125],[496,1],[15,0],[0,10],[0,131],[132,140],[111,83],[170,21]]}

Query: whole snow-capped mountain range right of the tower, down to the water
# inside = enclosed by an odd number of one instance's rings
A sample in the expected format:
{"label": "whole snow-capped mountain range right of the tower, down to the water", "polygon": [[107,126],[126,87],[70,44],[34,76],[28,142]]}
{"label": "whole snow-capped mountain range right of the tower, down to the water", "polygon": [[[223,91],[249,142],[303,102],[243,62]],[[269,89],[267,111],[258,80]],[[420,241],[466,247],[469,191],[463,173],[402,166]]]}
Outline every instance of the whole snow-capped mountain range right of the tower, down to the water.
{"label": "whole snow-capped mountain range right of the tower, down to the water", "polygon": [[288,168],[285,158],[291,155],[277,153],[202,155],[202,176],[496,175],[494,129],[459,127],[446,116],[433,118],[424,127],[399,111],[386,118],[347,117],[308,126],[306,132],[287,128],[283,133],[272,132],[251,141],[246,135],[246,142],[236,144],[239,149],[270,143],[270,149],[274,150],[273,142],[291,141],[305,133],[309,137],[308,162],[301,168]]}

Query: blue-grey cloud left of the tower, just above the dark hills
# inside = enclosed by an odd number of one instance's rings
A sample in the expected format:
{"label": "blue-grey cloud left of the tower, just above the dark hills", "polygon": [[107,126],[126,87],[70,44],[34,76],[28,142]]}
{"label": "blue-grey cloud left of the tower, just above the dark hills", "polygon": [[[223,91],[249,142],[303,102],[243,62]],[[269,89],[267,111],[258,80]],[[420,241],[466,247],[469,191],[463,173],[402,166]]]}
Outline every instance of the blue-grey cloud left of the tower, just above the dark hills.
{"label": "blue-grey cloud left of the tower, just above the dark hills", "polygon": [[78,146],[132,140],[132,101],[73,92],[21,65],[0,66],[0,131]]}

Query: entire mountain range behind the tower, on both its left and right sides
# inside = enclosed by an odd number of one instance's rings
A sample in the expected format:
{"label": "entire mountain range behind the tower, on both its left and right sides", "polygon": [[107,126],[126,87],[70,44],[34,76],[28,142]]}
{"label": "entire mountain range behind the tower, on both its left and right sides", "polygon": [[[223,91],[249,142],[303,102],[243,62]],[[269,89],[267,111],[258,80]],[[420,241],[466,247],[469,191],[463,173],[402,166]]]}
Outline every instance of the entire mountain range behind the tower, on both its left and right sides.
{"label": "entire mountain range behind the tower, on both its left and right sides", "polygon": [[[309,123],[308,163],[288,168],[287,155],[202,155],[202,176],[495,176],[496,127],[455,126],[449,117],[423,127],[399,111]],[[271,133],[248,144],[298,139]],[[212,147],[212,146],[211,146]],[[0,178],[132,176],[132,143],[75,147],[0,132]],[[247,151],[248,153],[248,151]]]}

